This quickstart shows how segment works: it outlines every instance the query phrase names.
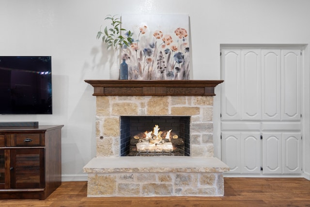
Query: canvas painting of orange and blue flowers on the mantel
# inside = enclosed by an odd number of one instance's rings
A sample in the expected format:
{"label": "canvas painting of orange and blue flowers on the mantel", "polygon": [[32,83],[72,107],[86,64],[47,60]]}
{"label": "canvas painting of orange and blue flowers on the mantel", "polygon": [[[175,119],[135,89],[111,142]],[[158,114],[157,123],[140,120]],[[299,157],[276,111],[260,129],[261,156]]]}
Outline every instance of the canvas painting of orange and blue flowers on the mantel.
{"label": "canvas painting of orange and blue flowers on the mantel", "polygon": [[128,80],[189,80],[188,15],[123,14],[122,28],[133,32],[121,52]]}

